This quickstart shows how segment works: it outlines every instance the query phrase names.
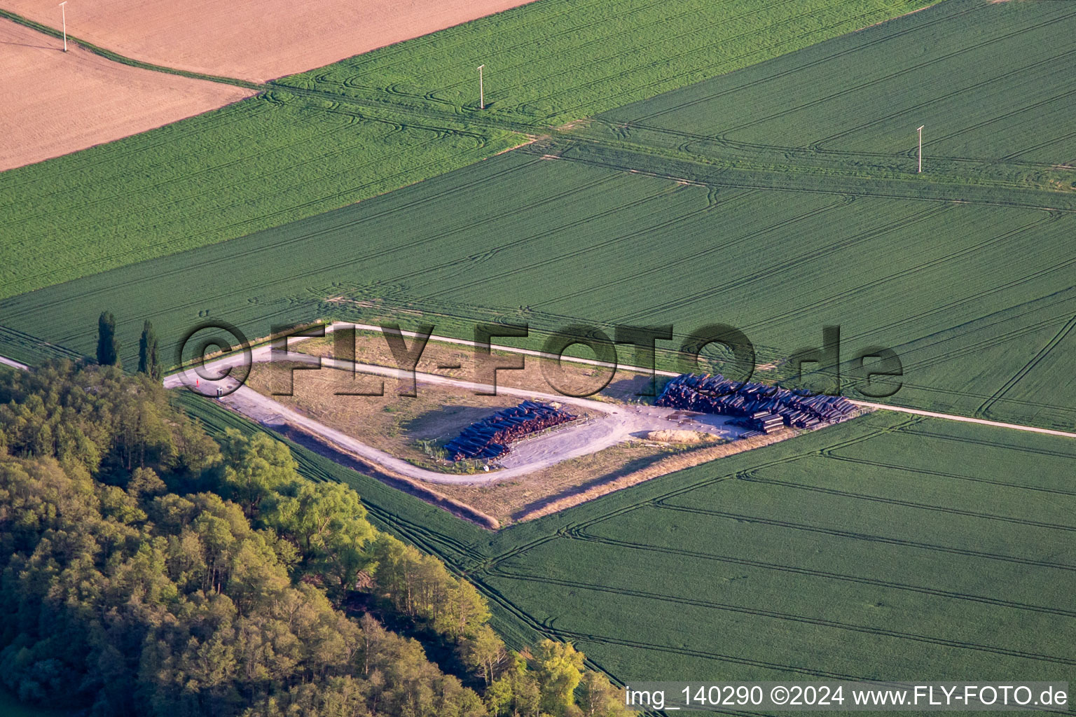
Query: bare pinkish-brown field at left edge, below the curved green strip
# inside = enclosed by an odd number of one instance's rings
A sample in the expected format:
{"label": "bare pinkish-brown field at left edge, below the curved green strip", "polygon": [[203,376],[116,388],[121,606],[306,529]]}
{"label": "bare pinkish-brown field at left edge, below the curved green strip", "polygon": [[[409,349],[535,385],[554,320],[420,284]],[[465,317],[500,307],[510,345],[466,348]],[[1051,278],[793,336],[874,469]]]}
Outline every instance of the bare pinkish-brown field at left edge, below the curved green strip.
{"label": "bare pinkish-brown field at left edge, below the curved green strip", "polygon": [[112,62],[0,19],[0,171],[143,132],[253,92]]}

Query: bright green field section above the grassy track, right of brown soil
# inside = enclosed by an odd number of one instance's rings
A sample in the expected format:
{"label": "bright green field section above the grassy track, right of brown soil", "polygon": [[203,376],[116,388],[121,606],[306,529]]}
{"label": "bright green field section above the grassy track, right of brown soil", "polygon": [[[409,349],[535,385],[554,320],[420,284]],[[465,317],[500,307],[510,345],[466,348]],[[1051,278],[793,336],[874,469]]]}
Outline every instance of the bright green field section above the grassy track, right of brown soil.
{"label": "bright green field section above the grassy track, right of brown soil", "polygon": [[[936,0],[935,0],[936,1]],[[539,0],[274,84],[542,129],[654,97],[931,0]]]}

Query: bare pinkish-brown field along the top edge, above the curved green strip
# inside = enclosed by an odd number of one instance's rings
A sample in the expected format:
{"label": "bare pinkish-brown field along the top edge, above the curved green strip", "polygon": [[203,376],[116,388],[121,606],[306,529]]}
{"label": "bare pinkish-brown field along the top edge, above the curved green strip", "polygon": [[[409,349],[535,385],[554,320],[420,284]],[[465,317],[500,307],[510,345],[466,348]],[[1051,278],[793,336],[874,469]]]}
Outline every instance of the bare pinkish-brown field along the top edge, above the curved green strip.
{"label": "bare pinkish-brown field along the top edge, above the curved green strip", "polygon": [[[528,0],[72,0],[68,32],[143,62],[265,82],[499,13]],[[59,28],[60,9],[4,10]]]}

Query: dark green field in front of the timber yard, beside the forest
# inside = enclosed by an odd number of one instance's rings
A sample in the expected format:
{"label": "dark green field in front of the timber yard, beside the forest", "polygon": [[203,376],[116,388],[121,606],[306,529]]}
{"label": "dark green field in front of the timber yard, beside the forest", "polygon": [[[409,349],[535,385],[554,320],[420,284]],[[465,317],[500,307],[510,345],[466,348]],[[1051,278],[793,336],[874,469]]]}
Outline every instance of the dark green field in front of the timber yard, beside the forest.
{"label": "dark green field in front of the timber yard, beside the forest", "polygon": [[876,413],[496,534],[293,450],[621,680],[1076,677],[1067,439]]}

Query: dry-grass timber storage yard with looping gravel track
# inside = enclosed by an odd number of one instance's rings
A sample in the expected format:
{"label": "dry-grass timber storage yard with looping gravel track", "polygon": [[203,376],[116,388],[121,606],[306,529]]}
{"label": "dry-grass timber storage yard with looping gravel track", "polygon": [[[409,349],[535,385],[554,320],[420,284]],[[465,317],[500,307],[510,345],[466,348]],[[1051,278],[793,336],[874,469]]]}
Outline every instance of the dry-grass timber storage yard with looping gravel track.
{"label": "dry-grass timber storage yard with looping gravel track", "polygon": [[[357,355],[380,359],[380,365],[359,364],[359,374],[372,374],[359,381],[394,376],[384,341],[364,332],[358,339]],[[634,393],[647,382],[631,373],[618,374],[598,400],[549,396],[542,392],[547,360],[534,357],[526,370],[505,372],[511,381],[498,386],[496,397],[475,396],[481,385],[469,383],[466,368],[456,368],[420,371],[414,398],[398,396],[386,381],[383,396],[342,399],[339,392],[352,390],[355,378],[334,370],[344,367],[329,358],[331,346],[323,339],[297,344],[301,353],[320,356],[324,369],[295,371],[292,396],[279,396],[277,388],[300,364],[266,363],[268,347],[256,349],[249,387],[222,399],[224,405],[390,484],[423,483],[427,487],[413,492],[478,511],[483,522],[534,519],[794,435],[754,435],[730,416],[638,403]],[[421,365],[462,367],[456,359],[467,356],[473,359],[469,350],[431,341]],[[222,365],[231,360],[222,359]],[[561,379],[582,386],[594,373],[569,362]],[[193,375],[173,375],[166,385]],[[532,398],[520,402],[524,396]],[[459,446],[461,435],[475,440]],[[509,445],[511,450],[501,450]],[[471,455],[457,455],[457,447],[469,447]]]}

